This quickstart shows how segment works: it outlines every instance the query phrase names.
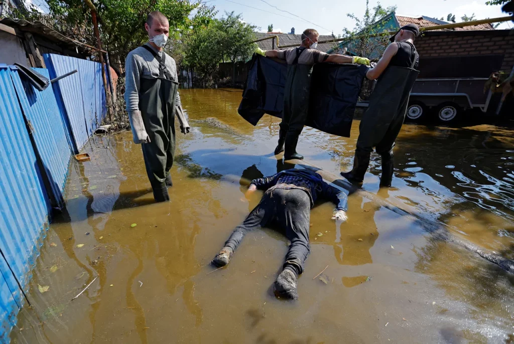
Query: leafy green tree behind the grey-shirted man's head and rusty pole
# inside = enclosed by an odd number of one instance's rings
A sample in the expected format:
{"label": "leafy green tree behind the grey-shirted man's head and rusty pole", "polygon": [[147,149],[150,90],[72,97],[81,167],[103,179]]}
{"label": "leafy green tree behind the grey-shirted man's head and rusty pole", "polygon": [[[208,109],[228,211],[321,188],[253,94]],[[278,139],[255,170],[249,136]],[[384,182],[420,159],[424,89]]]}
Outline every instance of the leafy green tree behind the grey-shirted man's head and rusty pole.
{"label": "leafy green tree behind the grey-shirted man's head and rusty pole", "polygon": [[[89,45],[96,45],[90,10],[83,0],[47,0],[49,13],[35,7],[21,17],[39,20],[63,34]],[[170,36],[207,24],[214,8],[193,0],[94,0],[102,46],[109,51],[113,67],[122,67],[128,52],[148,41],[144,30],[146,15],[160,11],[170,22]],[[118,69],[119,70],[119,69]]]}

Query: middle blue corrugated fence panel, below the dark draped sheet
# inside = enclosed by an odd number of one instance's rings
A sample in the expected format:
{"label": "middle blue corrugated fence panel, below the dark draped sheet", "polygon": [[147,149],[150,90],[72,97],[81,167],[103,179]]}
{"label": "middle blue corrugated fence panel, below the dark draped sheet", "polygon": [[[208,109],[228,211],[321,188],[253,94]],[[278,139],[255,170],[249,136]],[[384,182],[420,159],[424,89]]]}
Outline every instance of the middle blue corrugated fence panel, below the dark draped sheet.
{"label": "middle blue corrugated fence panel, below the dark draped sheet", "polygon": [[[33,129],[32,135],[37,147],[35,155],[36,157],[39,155],[46,171],[51,192],[57,201],[56,206],[64,208],[63,193],[71,150],[56,97],[51,87],[40,92],[20,78],[16,67],[11,69],[18,99]],[[34,68],[34,70],[49,77],[47,69]]]}

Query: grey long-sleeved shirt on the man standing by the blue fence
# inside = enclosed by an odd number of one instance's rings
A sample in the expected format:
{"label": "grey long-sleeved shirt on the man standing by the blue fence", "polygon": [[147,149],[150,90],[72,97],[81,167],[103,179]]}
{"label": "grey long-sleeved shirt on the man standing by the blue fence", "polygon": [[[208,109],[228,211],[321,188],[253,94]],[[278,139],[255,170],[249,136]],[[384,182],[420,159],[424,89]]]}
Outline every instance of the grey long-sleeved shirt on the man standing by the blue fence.
{"label": "grey long-sleeved shirt on the man standing by the blue fence", "polygon": [[[150,43],[145,45],[152,48],[159,56],[166,54],[164,51],[158,51]],[[178,81],[177,66],[175,60],[166,54],[166,70],[173,75],[175,81]],[[141,78],[153,79],[159,77],[159,63],[150,51],[143,47],[138,47],[128,53],[125,60],[125,103],[127,111],[139,110],[139,88]],[[180,96],[177,92],[175,99],[176,106],[180,106]]]}

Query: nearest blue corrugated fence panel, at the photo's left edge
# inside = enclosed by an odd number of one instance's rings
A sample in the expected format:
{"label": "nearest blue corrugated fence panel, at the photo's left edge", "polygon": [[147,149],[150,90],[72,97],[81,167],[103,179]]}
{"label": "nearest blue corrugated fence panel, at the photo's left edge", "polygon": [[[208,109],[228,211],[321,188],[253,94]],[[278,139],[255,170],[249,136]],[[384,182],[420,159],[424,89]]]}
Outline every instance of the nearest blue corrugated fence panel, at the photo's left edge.
{"label": "nearest blue corrugated fence panel, at the photo's left edge", "polygon": [[[50,208],[11,71],[6,65],[0,65],[0,166],[0,248],[25,286]],[[0,306],[6,316],[2,317],[0,340],[7,341],[22,300],[2,260],[0,257]]]}

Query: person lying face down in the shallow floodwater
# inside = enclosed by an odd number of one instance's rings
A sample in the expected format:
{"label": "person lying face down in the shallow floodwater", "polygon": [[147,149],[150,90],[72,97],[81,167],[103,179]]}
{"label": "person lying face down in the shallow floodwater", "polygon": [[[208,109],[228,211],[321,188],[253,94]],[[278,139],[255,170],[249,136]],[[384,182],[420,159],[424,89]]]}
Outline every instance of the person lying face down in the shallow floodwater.
{"label": "person lying face down in the shallow floodwater", "polygon": [[346,221],[348,197],[343,191],[328,185],[321,175],[310,170],[290,169],[265,178],[253,179],[246,198],[256,190],[265,190],[261,202],[245,221],[232,232],[225,247],[212,260],[223,267],[241,244],[244,236],[272,222],[280,226],[291,241],[282,272],[274,288],[278,296],[297,299],[297,279],[303,272],[305,259],[310,252],[310,209],[318,198],[325,198],[337,205],[332,219]]}

